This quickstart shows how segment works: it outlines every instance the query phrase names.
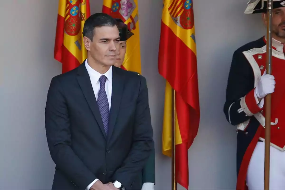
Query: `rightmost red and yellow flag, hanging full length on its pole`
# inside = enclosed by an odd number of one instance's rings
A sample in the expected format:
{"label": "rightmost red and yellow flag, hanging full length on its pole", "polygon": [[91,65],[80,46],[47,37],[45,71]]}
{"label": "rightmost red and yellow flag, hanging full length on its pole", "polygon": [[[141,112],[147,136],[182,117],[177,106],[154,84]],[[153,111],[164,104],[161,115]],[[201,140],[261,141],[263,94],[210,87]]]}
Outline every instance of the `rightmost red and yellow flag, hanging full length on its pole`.
{"label": "rightmost red and yellow flag, hanging full length on its pole", "polygon": [[176,181],[188,189],[188,149],[198,133],[200,106],[192,0],[164,0],[158,71],[166,79],[162,153],[172,156],[172,89],[175,90]]}

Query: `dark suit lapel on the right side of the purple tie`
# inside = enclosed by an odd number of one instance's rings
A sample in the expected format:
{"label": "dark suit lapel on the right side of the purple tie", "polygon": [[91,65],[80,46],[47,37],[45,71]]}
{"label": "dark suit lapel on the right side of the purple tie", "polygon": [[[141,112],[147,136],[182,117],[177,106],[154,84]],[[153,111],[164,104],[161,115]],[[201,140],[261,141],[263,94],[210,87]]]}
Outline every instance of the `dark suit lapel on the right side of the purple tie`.
{"label": "dark suit lapel on the right side of the purple tie", "polygon": [[123,75],[120,75],[120,68],[113,66],[112,73],[112,99],[111,99],[111,111],[109,115],[109,128],[108,128],[108,140],[110,140],[113,133],[115,123],[117,120],[117,115],[119,113],[123,87],[124,87],[124,78]]}

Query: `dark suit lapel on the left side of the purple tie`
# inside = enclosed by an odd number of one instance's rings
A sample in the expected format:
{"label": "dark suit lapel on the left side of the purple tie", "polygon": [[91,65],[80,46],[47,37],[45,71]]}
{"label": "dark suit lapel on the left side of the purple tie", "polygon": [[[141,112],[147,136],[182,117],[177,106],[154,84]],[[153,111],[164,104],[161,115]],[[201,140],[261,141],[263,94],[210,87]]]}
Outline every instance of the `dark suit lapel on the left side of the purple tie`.
{"label": "dark suit lapel on the left side of the purple tie", "polygon": [[105,136],[105,138],[107,138],[105,130],[104,130],[104,125],[103,125],[103,121],[101,118],[101,114],[99,111],[99,107],[95,98],[95,94],[93,91],[93,87],[90,81],[90,77],[89,74],[86,70],[85,67],[85,61],[78,67],[78,75],[77,75],[77,80],[78,83],[81,87],[81,90],[86,98],[86,101],[99,125],[99,127],[101,128],[101,131],[103,133],[103,135]]}

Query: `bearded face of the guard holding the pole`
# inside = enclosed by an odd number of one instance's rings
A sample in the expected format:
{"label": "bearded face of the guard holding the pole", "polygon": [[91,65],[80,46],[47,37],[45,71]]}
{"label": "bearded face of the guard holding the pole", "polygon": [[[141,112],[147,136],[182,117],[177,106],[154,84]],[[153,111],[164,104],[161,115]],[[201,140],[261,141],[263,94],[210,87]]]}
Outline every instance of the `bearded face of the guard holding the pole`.
{"label": "bearded face of the guard holding the pole", "polygon": [[[263,14],[264,23],[267,25],[267,17]],[[285,38],[285,7],[273,9],[272,33],[280,38]]]}

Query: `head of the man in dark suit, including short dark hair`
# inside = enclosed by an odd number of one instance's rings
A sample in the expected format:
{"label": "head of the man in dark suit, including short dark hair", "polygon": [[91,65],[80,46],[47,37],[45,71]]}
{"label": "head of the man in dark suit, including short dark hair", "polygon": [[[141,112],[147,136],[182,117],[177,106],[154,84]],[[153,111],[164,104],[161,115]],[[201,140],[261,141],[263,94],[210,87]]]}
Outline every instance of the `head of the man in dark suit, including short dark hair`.
{"label": "head of the man in dark suit, including short dark hair", "polygon": [[[106,17],[108,16],[106,15]],[[94,18],[93,20],[95,19],[101,19],[102,23],[96,21],[93,22],[97,24],[95,26],[94,24],[87,23],[84,25],[83,40],[86,50],[89,53],[88,57],[102,66],[114,65],[120,46],[118,27],[114,20],[110,20],[110,22],[107,22],[106,24],[102,17]],[[89,21],[91,22],[92,19]]]}

